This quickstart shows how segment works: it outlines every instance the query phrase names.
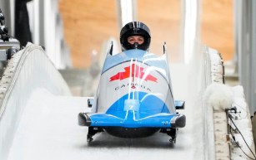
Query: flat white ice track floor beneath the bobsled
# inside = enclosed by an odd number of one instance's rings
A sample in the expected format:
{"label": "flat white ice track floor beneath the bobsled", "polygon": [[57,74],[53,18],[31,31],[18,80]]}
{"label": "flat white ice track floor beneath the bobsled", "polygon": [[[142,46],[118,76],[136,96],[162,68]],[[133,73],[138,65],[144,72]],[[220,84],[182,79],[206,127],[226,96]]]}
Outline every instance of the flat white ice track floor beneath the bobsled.
{"label": "flat white ice track floor beneath the bobsled", "polygon": [[187,127],[179,129],[174,148],[163,133],[133,139],[98,133],[88,147],[87,128],[79,127],[77,122],[77,114],[86,111],[86,103],[85,98],[56,96],[47,90],[35,90],[24,110],[8,159],[193,158],[193,130],[189,127],[192,119],[189,116]]}

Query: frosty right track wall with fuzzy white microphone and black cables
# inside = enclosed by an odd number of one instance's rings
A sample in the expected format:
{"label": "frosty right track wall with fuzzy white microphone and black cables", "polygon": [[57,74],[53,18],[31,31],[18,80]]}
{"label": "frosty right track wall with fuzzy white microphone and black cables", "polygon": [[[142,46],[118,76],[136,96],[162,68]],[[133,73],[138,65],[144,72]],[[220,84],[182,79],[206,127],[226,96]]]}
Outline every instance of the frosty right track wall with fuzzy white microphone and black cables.
{"label": "frosty right track wall with fuzzy white microphone and black cables", "polygon": [[[205,47],[203,54],[205,56],[204,71],[206,73],[203,87],[206,88],[206,95],[210,93],[211,96],[214,96],[213,103],[204,104],[206,106],[204,116],[207,121],[204,125],[205,135],[206,137],[214,137],[214,140],[208,139],[208,145],[214,148],[212,152],[209,151],[211,148],[208,148],[208,153],[215,159],[254,159],[252,124],[248,105],[243,95],[243,87],[224,85],[223,61],[218,51]],[[227,99],[230,102],[227,102]],[[235,106],[239,114],[233,113],[231,115],[234,119],[227,119],[225,110],[216,107],[214,104],[217,104],[217,106],[230,104],[230,106],[222,107],[227,109]],[[230,133],[231,128],[229,126],[232,128],[238,126],[237,129],[241,131],[241,134],[238,133],[238,130],[233,134]],[[233,137],[238,143],[234,143]],[[239,144],[239,147],[237,144]]]}

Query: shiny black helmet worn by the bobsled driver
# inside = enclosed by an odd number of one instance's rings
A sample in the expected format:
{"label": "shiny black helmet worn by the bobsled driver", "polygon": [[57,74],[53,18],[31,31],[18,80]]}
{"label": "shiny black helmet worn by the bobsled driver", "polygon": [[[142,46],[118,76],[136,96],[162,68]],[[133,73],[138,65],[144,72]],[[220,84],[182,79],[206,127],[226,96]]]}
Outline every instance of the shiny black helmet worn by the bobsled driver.
{"label": "shiny black helmet worn by the bobsled driver", "polygon": [[[128,36],[143,36],[144,42],[141,45],[128,43]],[[143,22],[129,22],[120,32],[120,43],[122,51],[130,49],[141,49],[148,51],[150,45],[150,30]]]}

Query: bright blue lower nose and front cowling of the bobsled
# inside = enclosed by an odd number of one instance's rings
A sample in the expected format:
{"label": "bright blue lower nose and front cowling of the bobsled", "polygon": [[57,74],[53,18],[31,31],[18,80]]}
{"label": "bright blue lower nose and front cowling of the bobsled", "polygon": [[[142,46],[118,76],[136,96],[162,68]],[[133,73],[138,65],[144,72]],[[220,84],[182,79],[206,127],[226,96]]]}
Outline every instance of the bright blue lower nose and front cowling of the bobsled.
{"label": "bright blue lower nose and front cowling of the bobsled", "polygon": [[[136,95],[140,100],[128,99]],[[125,105],[136,105],[127,108]],[[144,92],[134,92],[118,99],[106,114],[92,114],[91,126],[124,128],[170,128],[174,114],[170,114],[163,100]]]}

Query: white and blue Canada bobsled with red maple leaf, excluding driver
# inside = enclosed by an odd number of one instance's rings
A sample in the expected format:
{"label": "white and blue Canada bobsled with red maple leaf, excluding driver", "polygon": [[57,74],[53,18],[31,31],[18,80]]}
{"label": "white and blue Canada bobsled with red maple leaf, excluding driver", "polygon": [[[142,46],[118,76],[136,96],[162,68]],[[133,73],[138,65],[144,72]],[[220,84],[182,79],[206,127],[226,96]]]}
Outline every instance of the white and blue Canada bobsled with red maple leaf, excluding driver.
{"label": "white and blue Canada bobsled with red maple leaf, excluding driver", "polygon": [[88,99],[90,113],[79,113],[78,124],[88,126],[88,142],[96,133],[121,138],[143,138],[167,133],[176,142],[178,128],[186,124],[183,100],[174,100],[166,46],[163,55],[133,49],[112,54],[103,63],[98,90]]}

